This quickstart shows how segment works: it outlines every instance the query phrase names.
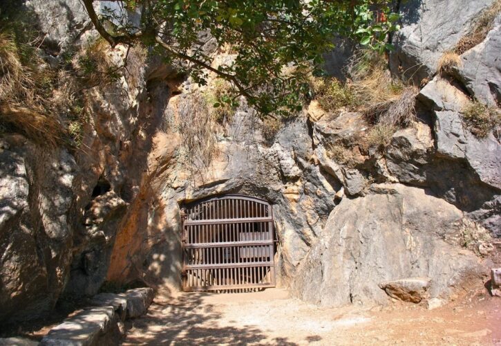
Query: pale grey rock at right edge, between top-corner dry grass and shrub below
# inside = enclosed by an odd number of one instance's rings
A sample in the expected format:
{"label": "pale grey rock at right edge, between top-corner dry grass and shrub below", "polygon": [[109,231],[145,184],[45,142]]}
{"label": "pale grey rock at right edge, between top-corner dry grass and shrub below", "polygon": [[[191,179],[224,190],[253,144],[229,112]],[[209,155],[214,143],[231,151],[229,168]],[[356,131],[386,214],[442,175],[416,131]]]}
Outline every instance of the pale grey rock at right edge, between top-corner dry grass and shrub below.
{"label": "pale grey rock at right edge, between top-corner dry grass and shrub below", "polygon": [[486,104],[501,102],[501,17],[484,42],[461,56],[459,75],[466,89]]}

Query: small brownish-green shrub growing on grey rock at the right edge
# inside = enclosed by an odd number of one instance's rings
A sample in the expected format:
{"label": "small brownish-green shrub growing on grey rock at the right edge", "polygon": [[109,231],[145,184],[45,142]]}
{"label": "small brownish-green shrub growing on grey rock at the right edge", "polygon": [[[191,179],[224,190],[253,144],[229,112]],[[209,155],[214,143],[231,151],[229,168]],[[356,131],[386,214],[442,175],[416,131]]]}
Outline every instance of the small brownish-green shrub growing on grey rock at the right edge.
{"label": "small brownish-green shrub growing on grey rock at the right edge", "polygon": [[501,111],[498,107],[486,106],[482,102],[472,101],[462,109],[466,127],[472,134],[483,138],[501,125]]}

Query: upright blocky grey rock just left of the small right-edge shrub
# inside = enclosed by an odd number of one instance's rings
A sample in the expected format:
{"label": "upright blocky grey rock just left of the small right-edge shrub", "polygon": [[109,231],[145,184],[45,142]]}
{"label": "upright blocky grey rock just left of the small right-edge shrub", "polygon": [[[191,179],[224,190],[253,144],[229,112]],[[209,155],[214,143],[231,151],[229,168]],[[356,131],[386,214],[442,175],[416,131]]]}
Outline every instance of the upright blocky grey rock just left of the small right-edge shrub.
{"label": "upright blocky grey rock just left of the small right-edge shrub", "polygon": [[461,116],[455,111],[435,112],[437,153],[451,158],[464,158],[466,138]]}

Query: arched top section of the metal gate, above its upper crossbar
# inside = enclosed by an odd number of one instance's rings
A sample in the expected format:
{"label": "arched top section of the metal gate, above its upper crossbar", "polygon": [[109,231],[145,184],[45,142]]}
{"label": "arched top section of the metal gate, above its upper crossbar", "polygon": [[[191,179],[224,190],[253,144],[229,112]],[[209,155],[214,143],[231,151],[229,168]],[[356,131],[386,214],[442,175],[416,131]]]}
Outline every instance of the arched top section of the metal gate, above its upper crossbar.
{"label": "arched top section of the metal gate, above its upper crossbar", "polygon": [[264,199],[241,194],[225,194],[193,201],[185,205],[187,221],[272,219],[272,206]]}

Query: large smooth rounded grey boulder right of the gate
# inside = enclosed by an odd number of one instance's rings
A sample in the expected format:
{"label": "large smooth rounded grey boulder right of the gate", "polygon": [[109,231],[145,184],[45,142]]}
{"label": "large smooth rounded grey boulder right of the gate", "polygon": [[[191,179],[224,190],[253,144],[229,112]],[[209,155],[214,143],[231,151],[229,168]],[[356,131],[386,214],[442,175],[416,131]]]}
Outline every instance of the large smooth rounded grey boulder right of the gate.
{"label": "large smooth rounded grey boulder right of the gate", "polygon": [[343,199],[292,280],[292,292],[324,306],[385,304],[381,282],[429,277],[429,289],[419,282],[419,289],[402,289],[408,285],[401,282],[384,288],[411,301],[424,291],[447,297],[452,286],[461,286],[460,278],[482,277],[478,258],[455,248],[463,217],[446,201],[398,184],[375,185],[366,197]]}

